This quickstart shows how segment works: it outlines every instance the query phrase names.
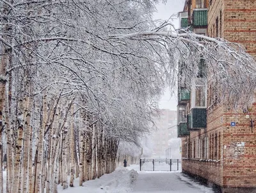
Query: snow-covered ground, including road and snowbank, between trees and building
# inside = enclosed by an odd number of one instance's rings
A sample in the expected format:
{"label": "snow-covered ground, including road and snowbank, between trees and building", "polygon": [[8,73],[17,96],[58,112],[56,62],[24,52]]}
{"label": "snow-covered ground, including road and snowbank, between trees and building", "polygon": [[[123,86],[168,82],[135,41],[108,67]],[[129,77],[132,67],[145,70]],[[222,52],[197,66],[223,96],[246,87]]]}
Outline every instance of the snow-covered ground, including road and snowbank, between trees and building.
{"label": "snow-covered ground, including road and snowbank, between trees and building", "polygon": [[[4,179],[6,172],[4,171]],[[5,182],[5,181],[4,181]],[[4,183],[5,186],[5,183]],[[99,179],[89,180],[79,187],[79,179],[74,182],[75,187],[63,190],[59,185],[60,193],[143,193],[143,192],[172,192],[172,193],[213,193],[214,191],[193,182],[188,176],[174,171],[140,171],[139,165],[127,168],[119,167],[113,173],[103,175]]]}

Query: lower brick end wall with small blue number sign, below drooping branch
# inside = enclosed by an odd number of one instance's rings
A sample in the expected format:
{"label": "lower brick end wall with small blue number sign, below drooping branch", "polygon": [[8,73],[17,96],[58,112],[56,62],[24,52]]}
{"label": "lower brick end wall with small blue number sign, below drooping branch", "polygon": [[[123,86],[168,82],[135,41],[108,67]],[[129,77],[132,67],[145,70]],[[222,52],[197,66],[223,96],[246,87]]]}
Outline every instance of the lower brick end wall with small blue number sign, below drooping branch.
{"label": "lower brick end wall with small blue number sign, below drooping branch", "polygon": [[[225,187],[256,187],[256,127],[250,127],[246,113],[227,111],[223,120],[223,185]],[[252,112],[256,118],[256,103]],[[236,122],[231,127],[230,122]]]}

